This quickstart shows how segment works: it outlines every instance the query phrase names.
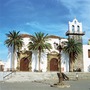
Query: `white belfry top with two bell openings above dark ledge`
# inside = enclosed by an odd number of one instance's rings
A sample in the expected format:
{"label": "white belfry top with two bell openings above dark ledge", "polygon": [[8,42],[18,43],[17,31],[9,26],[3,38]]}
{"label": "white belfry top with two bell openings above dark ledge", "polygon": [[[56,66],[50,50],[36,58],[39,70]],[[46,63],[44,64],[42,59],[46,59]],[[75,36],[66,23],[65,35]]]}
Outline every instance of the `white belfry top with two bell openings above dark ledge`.
{"label": "white belfry top with two bell openings above dark ledge", "polygon": [[69,21],[68,31],[66,32],[66,36],[68,36],[68,38],[73,38],[82,43],[82,36],[84,34],[81,22],[78,22],[76,18],[72,22]]}

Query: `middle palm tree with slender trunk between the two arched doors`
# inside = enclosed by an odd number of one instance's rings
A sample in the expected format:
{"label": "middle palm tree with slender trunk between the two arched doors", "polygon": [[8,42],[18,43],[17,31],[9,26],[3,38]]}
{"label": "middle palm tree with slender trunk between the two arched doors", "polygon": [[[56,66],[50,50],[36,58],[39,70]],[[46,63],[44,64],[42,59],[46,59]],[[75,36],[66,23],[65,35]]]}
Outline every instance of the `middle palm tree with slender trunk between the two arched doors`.
{"label": "middle palm tree with slender trunk between the two arched doors", "polygon": [[41,52],[44,52],[44,50],[50,50],[51,44],[47,42],[48,40],[48,34],[44,34],[42,32],[35,33],[34,36],[32,36],[31,41],[29,42],[29,50],[37,50],[39,52],[39,71],[40,71],[40,61],[41,61]]}

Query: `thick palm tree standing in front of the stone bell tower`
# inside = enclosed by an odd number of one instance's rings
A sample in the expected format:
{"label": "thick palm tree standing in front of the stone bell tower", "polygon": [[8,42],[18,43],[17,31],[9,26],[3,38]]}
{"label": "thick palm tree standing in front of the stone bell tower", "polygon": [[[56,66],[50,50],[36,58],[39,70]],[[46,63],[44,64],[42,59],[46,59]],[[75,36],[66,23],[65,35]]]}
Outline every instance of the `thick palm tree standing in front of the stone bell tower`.
{"label": "thick palm tree standing in front of the stone bell tower", "polygon": [[73,72],[73,64],[78,55],[82,52],[82,44],[74,39],[68,39],[67,46],[64,51],[69,54],[69,71]]}

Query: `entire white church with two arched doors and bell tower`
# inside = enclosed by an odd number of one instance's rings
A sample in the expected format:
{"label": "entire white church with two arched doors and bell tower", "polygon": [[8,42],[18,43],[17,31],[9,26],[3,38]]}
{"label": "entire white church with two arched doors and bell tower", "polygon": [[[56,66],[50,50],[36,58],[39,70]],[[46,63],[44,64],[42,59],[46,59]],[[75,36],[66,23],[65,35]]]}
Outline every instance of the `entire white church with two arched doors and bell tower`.
{"label": "entire white church with two arched doors and bell tower", "polygon": [[[85,33],[82,31],[82,23],[78,22],[77,19],[74,19],[72,22],[68,23],[68,31],[66,32],[66,36],[68,38],[75,38],[83,42],[82,36]],[[32,35],[22,34],[23,38],[23,47],[20,50],[19,58],[17,58],[17,53],[15,57],[15,65],[14,68],[16,71],[38,71],[39,62],[38,62],[38,52],[37,51],[29,51],[28,43],[29,39]],[[67,38],[49,35],[48,42],[51,44],[52,49],[50,51],[45,51],[41,55],[40,67],[42,72],[48,71],[58,71],[59,63],[58,63],[58,53],[59,51],[56,49],[55,44],[60,44],[62,42],[67,42]],[[75,62],[75,69],[80,68],[82,72],[90,72],[90,45],[83,45],[83,53],[80,55],[78,60]],[[12,48],[8,49],[8,60],[5,64],[4,70],[8,71],[12,68]],[[61,51],[61,70],[62,72],[69,72],[69,56],[68,54]]]}

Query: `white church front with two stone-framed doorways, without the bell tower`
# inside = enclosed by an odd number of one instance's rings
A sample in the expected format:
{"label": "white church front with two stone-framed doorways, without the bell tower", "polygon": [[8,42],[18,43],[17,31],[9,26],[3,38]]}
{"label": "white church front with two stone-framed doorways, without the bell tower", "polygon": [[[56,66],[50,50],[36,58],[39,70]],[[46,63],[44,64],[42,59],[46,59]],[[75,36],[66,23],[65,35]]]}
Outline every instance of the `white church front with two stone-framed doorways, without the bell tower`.
{"label": "white church front with two stone-framed doorways, without the bell tower", "polygon": [[[23,47],[19,52],[19,58],[15,58],[15,70],[17,71],[38,71],[39,60],[38,60],[38,51],[30,51],[28,49],[28,43],[30,41],[31,35],[22,34],[23,38]],[[66,42],[67,39],[61,38],[58,36],[50,35],[48,42],[51,44],[52,49],[50,51],[46,50],[41,54],[40,68],[42,72],[46,71],[58,71],[59,70],[59,51],[55,48],[54,43],[59,44],[60,42]],[[11,49],[9,50],[9,63],[11,65]],[[16,53],[17,57],[17,53]],[[68,55],[61,52],[61,63],[62,71],[69,71],[69,58]],[[67,61],[68,60],[68,61]],[[12,66],[9,66],[11,68]]]}

